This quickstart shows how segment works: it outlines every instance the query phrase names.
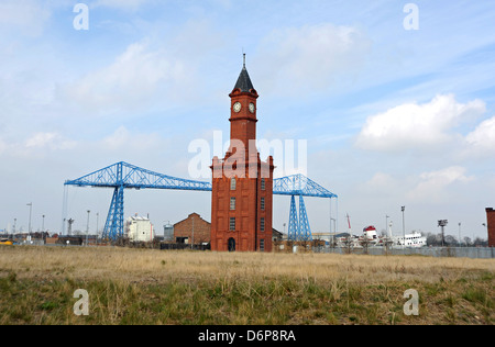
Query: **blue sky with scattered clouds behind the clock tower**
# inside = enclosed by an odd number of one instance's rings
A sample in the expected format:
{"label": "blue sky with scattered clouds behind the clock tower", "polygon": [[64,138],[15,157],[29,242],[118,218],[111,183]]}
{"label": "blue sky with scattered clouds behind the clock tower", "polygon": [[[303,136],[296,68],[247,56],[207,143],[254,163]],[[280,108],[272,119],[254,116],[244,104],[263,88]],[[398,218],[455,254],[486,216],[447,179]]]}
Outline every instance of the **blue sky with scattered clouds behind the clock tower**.
{"label": "blue sky with scattered clouds behind the clock tower", "polygon": [[[495,5],[491,1],[0,1],[0,228],[58,231],[63,183],[117,161],[188,178],[194,139],[229,137],[229,92],[248,55],[258,138],[308,143],[308,177],[339,194],[339,228],[486,238],[495,205]],[[406,30],[407,3],[419,30]],[[275,158],[275,160],[280,160]],[[278,161],[279,168],[284,163]],[[278,176],[284,176],[282,169]],[[110,191],[69,189],[69,217],[101,227]],[[306,202],[315,232],[329,202]],[[127,192],[155,225],[207,193]],[[274,227],[289,200],[275,198]],[[336,213],[336,212],[334,212]]]}

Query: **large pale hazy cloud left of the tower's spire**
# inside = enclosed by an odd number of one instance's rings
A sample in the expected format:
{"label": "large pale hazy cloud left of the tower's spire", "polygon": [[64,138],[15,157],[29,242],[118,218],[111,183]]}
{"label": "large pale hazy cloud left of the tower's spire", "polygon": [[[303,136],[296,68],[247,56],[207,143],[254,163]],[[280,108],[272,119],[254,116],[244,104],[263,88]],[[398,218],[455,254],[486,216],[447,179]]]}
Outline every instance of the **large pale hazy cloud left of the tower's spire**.
{"label": "large pale hazy cloud left of the tower's spire", "polygon": [[129,45],[110,65],[65,85],[61,97],[100,114],[191,104],[207,98],[190,91],[197,86],[207,88],[209,71],[198,74],[198,69],[208,52],[222,44],[209,22],[188,22],[174,36],[152,34]]}

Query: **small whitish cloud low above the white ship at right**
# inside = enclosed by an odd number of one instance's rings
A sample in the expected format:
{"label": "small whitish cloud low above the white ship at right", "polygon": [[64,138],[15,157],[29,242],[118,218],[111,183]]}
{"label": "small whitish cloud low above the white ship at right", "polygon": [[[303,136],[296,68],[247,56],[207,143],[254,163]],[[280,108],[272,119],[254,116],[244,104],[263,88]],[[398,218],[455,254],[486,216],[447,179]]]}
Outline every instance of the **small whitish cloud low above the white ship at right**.
{"label": "small whitish cloud low above the white ship at right", "polygon": [[465,183],[474,177],[465,176],[466,169],[460,166],[452,166],[438,171],[424,172],[419,176],[419,183],[407,193],[407,198],[413,201],[441,202],[449,201],[449,186],[461,182]]}

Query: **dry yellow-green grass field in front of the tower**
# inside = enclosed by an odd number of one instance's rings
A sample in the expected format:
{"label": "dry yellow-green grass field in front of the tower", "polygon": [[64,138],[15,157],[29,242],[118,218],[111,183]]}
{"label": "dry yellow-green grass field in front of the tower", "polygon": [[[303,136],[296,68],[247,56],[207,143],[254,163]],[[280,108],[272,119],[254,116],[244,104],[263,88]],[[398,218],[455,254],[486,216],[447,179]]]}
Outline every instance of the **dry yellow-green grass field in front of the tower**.
{"label": "dry yellow-green grass field in front of the tower", "polygon": [[1,246],[0,325],[492,325],[494,279],[493,259]]}

